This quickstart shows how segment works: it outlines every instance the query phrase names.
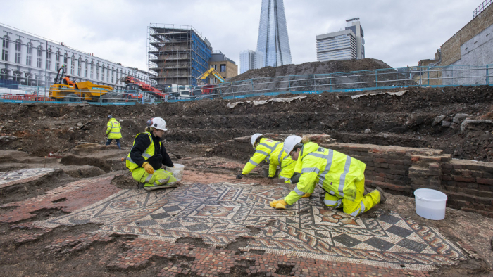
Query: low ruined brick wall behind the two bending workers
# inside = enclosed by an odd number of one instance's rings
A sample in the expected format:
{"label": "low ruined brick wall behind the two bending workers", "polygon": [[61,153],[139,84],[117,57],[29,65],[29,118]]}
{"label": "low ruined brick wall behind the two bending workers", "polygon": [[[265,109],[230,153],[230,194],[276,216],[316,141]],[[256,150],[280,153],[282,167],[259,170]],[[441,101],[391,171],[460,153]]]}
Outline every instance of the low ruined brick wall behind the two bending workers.
{"label": "low ruined brick wall behind the two bending workers", "polygon": [[[289,135],[264,136],[284,141]],[[408,196],[418,188],[432,188],[447,194],[447,207],[493,217],[493,163],[452,160],[451,155],[437,149],[336,143],[325,134],[309,136],[320,146],[364,162],[366,186],[380,186],[388,193]],[[232,157],[246,163],[254,154],[250,138],[244,136],[218,143],[208,155]]]}

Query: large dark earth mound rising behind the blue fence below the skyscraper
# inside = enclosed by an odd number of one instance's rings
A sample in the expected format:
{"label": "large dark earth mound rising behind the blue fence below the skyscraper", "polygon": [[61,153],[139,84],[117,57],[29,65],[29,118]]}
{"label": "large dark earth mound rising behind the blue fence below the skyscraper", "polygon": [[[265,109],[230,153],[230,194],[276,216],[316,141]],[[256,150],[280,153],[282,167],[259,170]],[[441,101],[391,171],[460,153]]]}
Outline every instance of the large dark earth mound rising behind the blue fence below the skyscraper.
{"label": "large dark earth mound rising behind the blue fence below the skyscraper", "polygon": [[301,63],[301,65],[262,67],[261,69],[249,70],[243,74],[227,79],[227,82],[236,82],[263,77],[329,74],[335,72],[376,70],[382,68],[392,67],[387,65],[387,63],[382,62],[382,60],[375,60],[373,58],[363,58],[362,60],[330,60],[327,62]]}

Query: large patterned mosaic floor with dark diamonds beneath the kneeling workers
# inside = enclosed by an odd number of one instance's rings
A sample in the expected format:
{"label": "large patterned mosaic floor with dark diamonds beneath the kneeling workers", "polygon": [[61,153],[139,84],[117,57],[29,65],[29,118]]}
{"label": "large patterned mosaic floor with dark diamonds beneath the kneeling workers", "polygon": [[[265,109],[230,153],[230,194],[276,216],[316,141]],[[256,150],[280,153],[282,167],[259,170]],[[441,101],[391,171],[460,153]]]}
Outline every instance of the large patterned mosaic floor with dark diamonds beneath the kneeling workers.
{"label": "large patterned mosaic floor with dark diamonds beneath the kneeling workers", "polygon": [[373,214],[377,217],[361,219],[339,210],[325,210],[320,191],[287,210],[269,207],[271,200],[287,193],[282,186],[233,183],[185,183],[180,188],[151,193],[123,190],[37,225],[101,223],[103,233],[135,234],[170,243],[194,237],[220,246],[253,236],[241,250],[395,269],[434,269],[435,265],[456,264],[464,258],[463,252],[437,231],[397,213],[376,211]]}

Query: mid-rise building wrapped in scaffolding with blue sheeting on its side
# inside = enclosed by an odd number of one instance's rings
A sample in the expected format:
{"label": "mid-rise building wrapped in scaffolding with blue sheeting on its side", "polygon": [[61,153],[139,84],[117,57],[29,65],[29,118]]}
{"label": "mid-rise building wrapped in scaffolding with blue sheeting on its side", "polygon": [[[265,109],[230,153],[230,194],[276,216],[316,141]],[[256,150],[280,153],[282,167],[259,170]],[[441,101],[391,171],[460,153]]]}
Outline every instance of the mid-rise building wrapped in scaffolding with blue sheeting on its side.
{"label": "mid-rise building wrapped in scaffolding with blue sheeting on its side", "polygon": [[158,84],[196,85],[208,70],[211,44],[194,27],[151,23],[147,32],[149,71]]}

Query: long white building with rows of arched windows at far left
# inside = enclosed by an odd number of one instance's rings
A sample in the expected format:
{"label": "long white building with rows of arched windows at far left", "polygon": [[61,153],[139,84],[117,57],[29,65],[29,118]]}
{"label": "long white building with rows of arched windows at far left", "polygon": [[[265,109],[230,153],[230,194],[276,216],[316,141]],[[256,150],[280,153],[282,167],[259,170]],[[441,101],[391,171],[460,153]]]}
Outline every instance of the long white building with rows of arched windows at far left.
{"label": "long white building with rows of arched windows at far left", "polygon": [[65,66],[66,74],[75,82],[91,81],[125,89],[121,79],[131,75],[153,84],[144,70],[125,67],[15,27],[0,24],[0,37],[0,79],[27,86],[49,86],[53,84],[58,69]]}

